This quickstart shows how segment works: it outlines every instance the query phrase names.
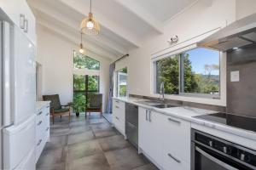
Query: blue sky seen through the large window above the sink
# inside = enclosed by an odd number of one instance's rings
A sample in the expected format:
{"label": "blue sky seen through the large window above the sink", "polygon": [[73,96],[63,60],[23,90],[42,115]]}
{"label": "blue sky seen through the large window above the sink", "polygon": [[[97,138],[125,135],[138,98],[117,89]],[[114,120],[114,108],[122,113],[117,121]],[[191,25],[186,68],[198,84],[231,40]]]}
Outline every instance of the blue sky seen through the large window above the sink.
{"label": "blue sky seen through the large window above the sink", "polygon": [[[204,65],[219,65],[219,52],[207,48],[195,48],[187,52],[192,63],[192,70],[198,74],[205,74]],[[212,71],[212,75],[219,75],[219,71]]]}

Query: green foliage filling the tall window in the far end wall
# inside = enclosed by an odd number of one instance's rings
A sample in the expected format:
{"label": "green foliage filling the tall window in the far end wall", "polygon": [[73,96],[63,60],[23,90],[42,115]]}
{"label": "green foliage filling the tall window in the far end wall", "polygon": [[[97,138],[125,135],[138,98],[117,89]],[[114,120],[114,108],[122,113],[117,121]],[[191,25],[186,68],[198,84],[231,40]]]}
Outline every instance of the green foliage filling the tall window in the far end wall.
{"label": "green foliage filling the tall window in the far end wall", "polygon": [[99,92],[100,62],[84,54],[73,52],[73,103],[76,112],[84,111],[86,96]]}

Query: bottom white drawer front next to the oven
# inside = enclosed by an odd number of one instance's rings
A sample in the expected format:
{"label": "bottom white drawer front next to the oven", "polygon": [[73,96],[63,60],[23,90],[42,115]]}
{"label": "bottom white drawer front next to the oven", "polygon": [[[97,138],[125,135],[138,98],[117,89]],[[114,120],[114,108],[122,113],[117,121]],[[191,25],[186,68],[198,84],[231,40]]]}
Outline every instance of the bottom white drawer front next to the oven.
{"label": "bottom white drawer front next to the oven", "polygon": [[170,155],[166,151],[164,151],[163,158],[164,170],[190,170],[190,164],[187,161],[177,160],[175,156]]}

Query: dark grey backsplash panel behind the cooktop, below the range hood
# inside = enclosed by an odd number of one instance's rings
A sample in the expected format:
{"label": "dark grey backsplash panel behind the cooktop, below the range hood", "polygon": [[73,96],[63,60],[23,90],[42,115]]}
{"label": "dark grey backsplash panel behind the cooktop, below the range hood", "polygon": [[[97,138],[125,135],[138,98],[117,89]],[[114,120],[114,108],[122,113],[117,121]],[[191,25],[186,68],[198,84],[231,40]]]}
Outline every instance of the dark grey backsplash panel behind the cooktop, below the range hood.
{"label": "dark grey backsplash panel behind the cooktop, below the range hood", "polygon": [[[239,82],[230,81],[231,71],[239,71]],[[227,53],[227,111],[256,117],[256,45]]]}

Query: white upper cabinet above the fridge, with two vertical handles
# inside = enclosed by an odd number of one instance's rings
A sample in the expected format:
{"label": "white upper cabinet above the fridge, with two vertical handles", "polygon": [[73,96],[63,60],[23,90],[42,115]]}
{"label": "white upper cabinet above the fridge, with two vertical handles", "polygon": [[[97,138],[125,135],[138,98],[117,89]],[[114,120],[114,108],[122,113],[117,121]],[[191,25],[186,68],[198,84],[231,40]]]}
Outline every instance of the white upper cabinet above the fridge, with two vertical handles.
{"label": "white upper cabinet above the fridge, with two vertical handles", "polygon": [[0,8],[36,44],[36,19],[26,0],[0,0]]}

